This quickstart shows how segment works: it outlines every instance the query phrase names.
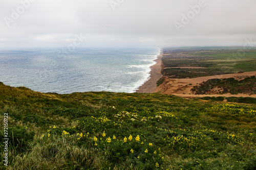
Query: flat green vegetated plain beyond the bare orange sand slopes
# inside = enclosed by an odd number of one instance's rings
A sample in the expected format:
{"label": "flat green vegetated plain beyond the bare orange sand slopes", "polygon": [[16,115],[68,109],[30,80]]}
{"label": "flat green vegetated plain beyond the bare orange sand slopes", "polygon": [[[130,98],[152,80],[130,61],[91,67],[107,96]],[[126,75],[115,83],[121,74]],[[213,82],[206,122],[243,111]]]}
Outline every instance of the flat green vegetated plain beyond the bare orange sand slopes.
{"label": "flat green vegetated plain beyond the bare orange sand slopes", "polygon": [[196,78],[256,71],[256,49],[190,47],[163,49],[162,74],[169,78]]}

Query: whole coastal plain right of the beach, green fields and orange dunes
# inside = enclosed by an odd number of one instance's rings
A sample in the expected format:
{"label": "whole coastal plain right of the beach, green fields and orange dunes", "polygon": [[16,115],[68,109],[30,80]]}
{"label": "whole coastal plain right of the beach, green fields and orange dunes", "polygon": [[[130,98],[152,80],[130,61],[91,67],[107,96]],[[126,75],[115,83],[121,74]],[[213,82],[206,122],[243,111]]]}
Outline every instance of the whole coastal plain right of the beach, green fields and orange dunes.
{"label": "whole coastal plain right of the beach, green fields and orange dunes", "polygon": [[[187,98],[204,95],[256,97],[255,48],[164,48],[161,73],[154,92]],[[154,74],[152,70],[151,76]]]}

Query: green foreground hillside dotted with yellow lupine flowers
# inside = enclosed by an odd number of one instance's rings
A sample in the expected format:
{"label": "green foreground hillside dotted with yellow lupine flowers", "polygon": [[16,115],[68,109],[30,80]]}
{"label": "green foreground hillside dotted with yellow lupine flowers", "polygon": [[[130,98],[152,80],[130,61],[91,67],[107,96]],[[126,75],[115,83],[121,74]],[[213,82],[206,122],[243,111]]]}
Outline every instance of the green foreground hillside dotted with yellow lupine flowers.
{"label": "green foreground hillside dotted with yellow lupine flowers", "polygon": [[256,168],[255,104],[0,84],[0,112],[2,169]]}

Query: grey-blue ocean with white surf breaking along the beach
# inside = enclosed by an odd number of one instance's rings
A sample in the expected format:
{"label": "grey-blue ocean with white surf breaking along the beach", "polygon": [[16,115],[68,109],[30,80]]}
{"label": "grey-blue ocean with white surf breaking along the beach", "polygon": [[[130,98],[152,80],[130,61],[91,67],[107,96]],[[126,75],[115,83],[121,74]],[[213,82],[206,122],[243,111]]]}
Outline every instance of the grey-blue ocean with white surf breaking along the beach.
{"label": "grey-blue ocean with white surf breaking along the beach", "polygon": [[150,78],[160,48],[91,48],[65,55],[58,50],[1,51],[0,82],[59,94],[135,92]]}

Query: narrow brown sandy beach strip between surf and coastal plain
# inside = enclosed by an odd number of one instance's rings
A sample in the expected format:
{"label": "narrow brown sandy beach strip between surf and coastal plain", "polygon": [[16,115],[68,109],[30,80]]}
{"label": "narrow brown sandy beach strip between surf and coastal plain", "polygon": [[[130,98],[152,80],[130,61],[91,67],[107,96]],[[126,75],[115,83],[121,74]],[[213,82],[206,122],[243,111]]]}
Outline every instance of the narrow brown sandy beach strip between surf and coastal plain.
{"label": "narrow brown sandy beach strip between surf and coastal plain", "polygon": [[154,93],[157,88],[157,81],[162,77],[161,74],[161,63],[163,57],[163,50],[160,49],[160,54],[157,59],[154,60],[156,64],[152,65],[150,71],[150,79],[148,79],[144,84],[142,84],[137,90],[137,93]]}

